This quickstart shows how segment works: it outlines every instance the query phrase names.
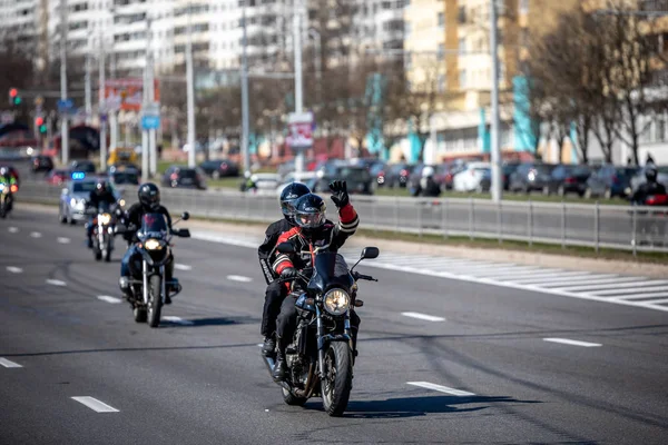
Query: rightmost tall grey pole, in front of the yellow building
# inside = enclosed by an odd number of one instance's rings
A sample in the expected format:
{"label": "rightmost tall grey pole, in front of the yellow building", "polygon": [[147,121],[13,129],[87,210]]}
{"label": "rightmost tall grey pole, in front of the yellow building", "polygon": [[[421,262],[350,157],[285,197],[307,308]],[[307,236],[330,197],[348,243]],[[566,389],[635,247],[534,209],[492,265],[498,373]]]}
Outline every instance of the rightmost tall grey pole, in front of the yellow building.
{"label": "rightmost tall grey pole, in front of the yellow building", "polygon": [[499,118],[499,48],[497,37],[499,22],[497,20],[497,0],[490,0],[490,49],[492,53],[492,131],[491,131],[491,160],[492,160],[492,200],[500,202],[503,198],[503,177],[501,176],[501,123]]}

